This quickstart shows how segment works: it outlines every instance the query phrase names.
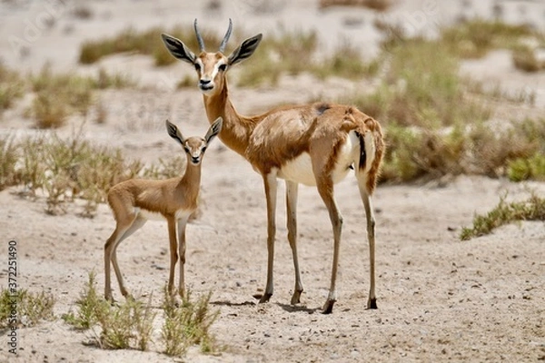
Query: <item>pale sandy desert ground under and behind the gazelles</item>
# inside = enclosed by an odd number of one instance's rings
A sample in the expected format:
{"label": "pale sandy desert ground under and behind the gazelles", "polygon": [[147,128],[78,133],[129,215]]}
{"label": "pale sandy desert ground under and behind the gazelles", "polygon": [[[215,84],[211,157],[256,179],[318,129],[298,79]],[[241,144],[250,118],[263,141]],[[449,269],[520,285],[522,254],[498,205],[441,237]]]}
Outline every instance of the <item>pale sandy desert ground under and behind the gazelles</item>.
{"label": "pale sandy desert ground under and behind the gazelles", "polygon": [[[220,13],[207,13],[198,2],[140,1],[88,3],[94,17],[87,21],[58,10],[55,24],[28,40],[29,54],[14,52],[10,36],[25,34],[28,22],[40,19],[46,5],[40,2],[0,3],[1,56],[5,64],[24,71],[39,70],[51,61],[55,68],[90,72],[104,66],[137,76],[145,89],[105,91],[104,124],[85,123],[84,137],[121,147],[127,155],[153,162],[181,152],[163,130],[170,118],[186,135],[203,134],[202,99],[196,88],[174,91],[173,84],[190,72],[185,64],[154,69],[138,55],[115,55],[92,67],[75,62],[84,39],[112,34],[127,25],[145,28],[157,24],[206,19],[223,33],[224,19],[248,34],[284,26],[316,27],[323,35],[324,51],[338,36],[376,51],[378,34],[372,29],[372,12],[333,8],[317,10],[312,1],[277,1],[269,12],[254,15],[256,3],[224,2]],[[228,3],[228,4],[227,4]],[[490,15],[491,2],[407,1],[387,15],[400,19],[413,31],[431,32],[438,24],[459,15]],[[463,3],[463,2],[461,2]],[[504,1],[506,18],[543,24],[540,2]],[[74,5],[74,3],[69,3]],[[264,4],[264,3],[263,3]],[[442,4],[442,3],[441,3]],[[282,6],[280,6],[282,5]],[[432,5],[435,5],[433,7]],[[524,6],[522,6],[524,5]],[[278,10],[280,9],[280,10]],[[430,10],[431,9],[431,10]],[[354,29],[347,17],[363,22]],[[420,17],[419,17],[420,16]],[[297,23],[294,24],[294,20]],[[323,26],[327,24],[327,28]],[[331,26],[330,26],[331,25]],[[261,30],[263,27],[264,30]],[[329,34],[329,35],[328,35]],[[321,36],[322,36],[321,35]],[[357,35],[357,36],[356,36]],[[329,37],[328,37],[329,36]],[[13,40],[14,38],[11,37]],[[373,43],[374,42],[374,43]],[[233,44],[232,44],[233,46]],[[373,51],[374,49],[374,51]],[[25,53],[24,51],[23,53]],[[495,68],[493,68],[495,67]],[[240,67],[243,69],[243,65]],[[496,72],[491,71],[494,69]],[[508,87],[529,89],[536,106],[505,114],[542,112],[543,75],[528,76],[513,70],[506,55],[493,53],[481,62],[467,62],[462,72],[477,74]],[[350,92],[353,84],[329,80],[320,84],[307,76],[285,78],[276,88],[258,90],[232,86],[233,103],[242,113],[265,110],[279,102],[305,102],[322,95]],[[365,86],[365,85],[363,85]],[[35,132],[23,115],[25,99],[5,113],[1,132]],[[70,134],[81,120],[74,118],[59,130]],[[74,203],[63,216],[46,215],[45,200],[29,201],[16,195],[20,187],[0,192],[0,234],[5,240],[0,260],[0,286],[7,284],[7,241],[17,241],[18,283],[31,291],[49,291],[56,300],[54,314],[74,309],[89,271],[98,274],[104,288],[103,246],[114,229],[111,211],[100,205],[94,219],[77,216]],[[150,352],[101,350],[88,347],[88,333],[70,329],[62,319],[18,330],[17,356],[7,352],[7,337],[0,338],[0,361],[19,362],[325,362],[325,361],[524,361],[545,359],[545,225],[521,222],[489,236],[461,242],[462,226],[474,213],[489,211],[501,195],[510,200],[545,194],[545,184],[510,183],[482,177],[459,177],[416,185],[381,185],[374,195],[377,219],[377,310],[365,309],[369,289],[368,245],[355,179],[350,175],[336,187],[344,216],[339,301],[332,315],[319,309],[329,286],[332,231],[327,211],[313,188],[302,187],[299,200],[299,249],[305,291],[302,304],[292,307],[292,254],[285,238],[283,185],[279,191],[278,233],[275,255],[275,293],[268,304],[256,304],[253,294],[263,289],[266,273],[266,217],[261,178],[240,156],[216,141],[203,162],[203,217],[188,226],[186,282],[193,294],[213,290],[213,309],[220,311],[213,334],[226,347],[220,356],[204,356],[197,348],[181,358],[160,353],[159,321]],[[119,260],[128,289],[136,295],[153,294],[160,313],[160,296],[167,280],[166,223],[149,221],[119,248]],[[114,280],[114,296],[121,299]],[[160,315],[160,314],[159,314]]]}

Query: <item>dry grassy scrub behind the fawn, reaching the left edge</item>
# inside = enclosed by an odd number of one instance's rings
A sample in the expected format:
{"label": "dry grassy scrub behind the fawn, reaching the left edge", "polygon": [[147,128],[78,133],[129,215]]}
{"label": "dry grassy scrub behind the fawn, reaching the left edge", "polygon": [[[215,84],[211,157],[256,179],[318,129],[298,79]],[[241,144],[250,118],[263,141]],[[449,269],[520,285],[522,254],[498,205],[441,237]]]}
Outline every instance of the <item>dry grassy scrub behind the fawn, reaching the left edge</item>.
{"label": "dry grassy scrub behind the fawn, reaching the left edge", "polygon": [[178,156],[144,168],[143,162],[126,160],[119,149],[94,146],[80,133],[67,140],[43,133],[20,142],[6,136],[0,146],[0,185],[22,183],[31,195],[46,191],[50,214],[62,214],[67,202],[82,198],[87,201],[82,216],[93,217],[114,184],[137,176],[172,178],[185,162]]}

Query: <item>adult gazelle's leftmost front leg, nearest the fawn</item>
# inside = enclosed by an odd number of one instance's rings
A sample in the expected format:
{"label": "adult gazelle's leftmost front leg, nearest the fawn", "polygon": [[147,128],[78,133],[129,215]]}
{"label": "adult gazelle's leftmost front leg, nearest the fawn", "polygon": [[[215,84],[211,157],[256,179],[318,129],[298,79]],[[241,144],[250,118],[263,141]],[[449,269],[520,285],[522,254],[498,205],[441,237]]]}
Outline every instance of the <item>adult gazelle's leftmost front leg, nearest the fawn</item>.
{"label": "adult gazelle's leftmost front leg, nearest the fawn", "polygon": [[263,175],[265,185],[265,197],[267,199],[267,285],[260,303],[267,302],[272,297],[272,265],[274,261],[274,238],[276,234],[276,173],[270,172]]}

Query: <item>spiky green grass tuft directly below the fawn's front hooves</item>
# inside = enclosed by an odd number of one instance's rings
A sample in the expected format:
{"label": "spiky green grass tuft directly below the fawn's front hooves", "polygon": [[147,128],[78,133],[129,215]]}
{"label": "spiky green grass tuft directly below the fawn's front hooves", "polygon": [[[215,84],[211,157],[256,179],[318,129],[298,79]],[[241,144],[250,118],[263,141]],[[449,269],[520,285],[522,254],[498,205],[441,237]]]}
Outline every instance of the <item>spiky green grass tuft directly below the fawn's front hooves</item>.
{"label": "spiky green grass tuft directly below the fawn's front hooves", "polygon": [[164,288],[164,323],[161,333],[165,354],[182,356],[194,344],[200,344],[203,352],[212,352],[215,349],[209,330],[219,311],[210,311],[211,297],[212,291],[192,301],[191,291],[187,291],[182,304],[176,306],[168,289]]}

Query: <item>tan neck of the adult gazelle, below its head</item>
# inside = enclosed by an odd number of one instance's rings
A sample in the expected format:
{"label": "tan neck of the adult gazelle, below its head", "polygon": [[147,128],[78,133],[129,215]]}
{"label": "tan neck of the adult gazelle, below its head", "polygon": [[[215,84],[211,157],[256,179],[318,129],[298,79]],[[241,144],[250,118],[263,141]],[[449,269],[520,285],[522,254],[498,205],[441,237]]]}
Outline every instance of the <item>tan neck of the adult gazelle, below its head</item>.
{"label": "tan neck of the adult gazelle, below its head", "polygon": [[217,93],[210,96],[204,94],[203,101],[210,123],[220,116],[223,117],[223,129],[219,134],[220,140],[228,148],[245,157],[256,119],[244,117],[236,112],[229,99],[226,80],[223,80],[223,86]]}

